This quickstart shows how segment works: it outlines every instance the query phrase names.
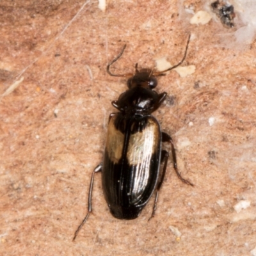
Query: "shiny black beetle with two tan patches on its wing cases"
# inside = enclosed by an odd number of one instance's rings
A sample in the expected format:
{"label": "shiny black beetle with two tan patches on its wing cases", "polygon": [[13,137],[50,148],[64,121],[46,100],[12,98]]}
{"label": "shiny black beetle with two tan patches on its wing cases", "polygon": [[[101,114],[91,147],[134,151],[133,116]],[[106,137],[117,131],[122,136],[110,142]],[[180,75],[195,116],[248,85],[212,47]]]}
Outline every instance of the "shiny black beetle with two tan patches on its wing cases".
{"label": "shiny black beetle with two tan patches on its wing cases", "polygon": [[[189,36],[190,38],[190,36]],[[156,212],[159,189],[164,180],[169,154],[162,149],[162,142],[172,146],[173,167],[182,182],[191,184],[181,177],[177,169],[175,148],[172,138],[161,132],[159,123],[152,112],[161,106],[167,93],[157,93],[157,76],[178,67],[186,58],[189,38],[182,60],[175,66],[161,72],[147,68],[135,74],[112,74],[109,67],[123,54],[125,46],[118,56],[107,66],[110,76],[130,77],[127,81],[128,90],[122,93],[112,105],[120,112],[109,116],[108,134],[103,163],[92,173],[88,196],[88,213],[76,230],[74,239],[92,212],[93,179],[97,172],[102,172],[102,188],[111,214],[118,219],[132,220],[140,215],[141,210],[156,191],[156,199],[152,217]],[[160,171],[160,164],[163,170]]]}

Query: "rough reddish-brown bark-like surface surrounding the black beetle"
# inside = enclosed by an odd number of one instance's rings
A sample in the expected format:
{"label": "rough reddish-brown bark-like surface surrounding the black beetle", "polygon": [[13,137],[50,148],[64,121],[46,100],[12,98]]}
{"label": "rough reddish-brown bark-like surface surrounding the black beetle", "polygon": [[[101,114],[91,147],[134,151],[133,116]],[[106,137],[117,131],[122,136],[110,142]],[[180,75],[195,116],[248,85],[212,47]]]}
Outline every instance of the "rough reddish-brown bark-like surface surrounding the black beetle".
{"label": "rough reddish-brown bark-like surface surrounding the black beetle", "polygon": [[[110,0],[104,13],[97,1],[1,1],[0,93],[10,88],[0,101],[1,255],[252,255],[256,44],[223,47],[234,30],[216,20],[189,24],[184,6],[197,12],[198,3]],[[163,56],[174,65],[189,33],[184,65],[195,73],[159,79],[157,92],[168,99],[154,115],[195,188],[169,164],[155,218],[147,221],[151,200],[138,219],[120,221],[99,174],[93,214],[73,243],[110,102],[125,90],[124,79],[106,74],[108,61],[127,44],[116,72],[132,72],[136,62],[152,68]],[[241,200],[250,206],[237,212]]]}

